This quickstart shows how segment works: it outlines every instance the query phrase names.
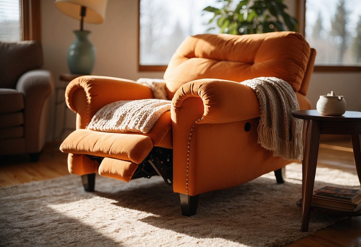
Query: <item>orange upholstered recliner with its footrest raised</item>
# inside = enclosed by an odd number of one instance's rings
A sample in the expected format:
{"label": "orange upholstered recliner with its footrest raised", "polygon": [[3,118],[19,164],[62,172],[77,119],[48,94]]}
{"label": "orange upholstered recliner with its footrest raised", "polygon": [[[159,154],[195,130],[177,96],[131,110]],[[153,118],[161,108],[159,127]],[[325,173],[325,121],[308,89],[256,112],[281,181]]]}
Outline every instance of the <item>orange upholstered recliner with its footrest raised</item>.
{"label": "orange upholstered recliner with its footrest raised", "polygon": [[[180,194],[183,215],[194,215],[199,194],[230,188],[292,161],[274,157],[257,143],[260,105],[253,89],[237,82],[278,77],[296,92],[300,109],[316,51],[300,33],[204,34],[179,46],[164,74],[171,111],[147,134],[88,130],[92,116],[118,100],[153,98],[135,81],[81,76],[65,93],[77,113],[77,130],[62,143],[69,172],[94,189],[95,173],[122,181],[161,175]],[[277,171],[277,172],[276,172]]]}

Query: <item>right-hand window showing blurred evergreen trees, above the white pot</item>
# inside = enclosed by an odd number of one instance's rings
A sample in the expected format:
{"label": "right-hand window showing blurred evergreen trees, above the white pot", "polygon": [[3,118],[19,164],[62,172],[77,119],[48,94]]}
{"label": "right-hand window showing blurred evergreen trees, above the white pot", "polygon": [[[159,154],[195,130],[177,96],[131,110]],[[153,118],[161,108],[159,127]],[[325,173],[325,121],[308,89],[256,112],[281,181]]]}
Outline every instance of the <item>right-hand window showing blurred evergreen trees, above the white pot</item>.
{"label": "right-hand window showing blurred evergreen trees, above the white pot", "polygon": [[304,24],[316,71],[361,71],[360,0],[306,0]]}

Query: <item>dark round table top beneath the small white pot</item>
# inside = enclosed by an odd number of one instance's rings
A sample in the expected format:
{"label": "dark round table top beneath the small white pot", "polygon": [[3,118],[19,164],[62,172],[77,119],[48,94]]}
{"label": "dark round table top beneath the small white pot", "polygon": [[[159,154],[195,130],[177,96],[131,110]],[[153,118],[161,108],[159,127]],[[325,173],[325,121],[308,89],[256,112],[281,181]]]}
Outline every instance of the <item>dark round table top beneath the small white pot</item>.
{"label": "dark round table top beneath the small white pot", "polygon": [[292,111],[292,116],[305,120],[335,121],[335,122],[358,122],[361,121],[361,112],[346,111],[342,116],[325,116],[317,110]]}

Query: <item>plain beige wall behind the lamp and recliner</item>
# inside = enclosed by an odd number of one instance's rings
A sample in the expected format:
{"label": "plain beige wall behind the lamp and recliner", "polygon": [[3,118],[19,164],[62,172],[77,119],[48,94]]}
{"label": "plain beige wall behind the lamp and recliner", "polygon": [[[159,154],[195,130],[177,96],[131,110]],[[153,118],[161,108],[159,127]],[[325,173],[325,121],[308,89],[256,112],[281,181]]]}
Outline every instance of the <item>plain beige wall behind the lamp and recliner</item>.
{"label": "plain beige wall behind the lamp and recliner", "polygon": [[[44,67],[51,69],[56,86],[63,85],[58,77],[68,73],[66,54],[74,40],[72,30],[79,29],[79,21],[71,19],[55,8],[55,0],[41,0],[42,43]],[[290,13],[296,12],[296,0],[286,0]],[[102,24],[84,24],[91,31],[90,41],[97,49],[94,75],[114,76],[136,80],[141,77],[162,78],[162,72],[138,72],[138,1],[109,0]],[[331,90],[344,95],[348,110],[361,110],[361,73],[314,73],[308,98],[316,107],[319,95]],[[63,95],[61,95],[63,97]],[[53,98],[53,97],[52,97]],[[52,102],[51,102],[51,105]],[[50,108],[53,112],[53,107]],[[63,107],[58,108],[57,122],[62,121]],[[68,111],[68,126],[75,125],[75,114]],[[52,116],[52,113],[51,113]],[[49,120],[48,140],[52,138],[52,117]],[[56,134],[60,132],[57,124]]]}

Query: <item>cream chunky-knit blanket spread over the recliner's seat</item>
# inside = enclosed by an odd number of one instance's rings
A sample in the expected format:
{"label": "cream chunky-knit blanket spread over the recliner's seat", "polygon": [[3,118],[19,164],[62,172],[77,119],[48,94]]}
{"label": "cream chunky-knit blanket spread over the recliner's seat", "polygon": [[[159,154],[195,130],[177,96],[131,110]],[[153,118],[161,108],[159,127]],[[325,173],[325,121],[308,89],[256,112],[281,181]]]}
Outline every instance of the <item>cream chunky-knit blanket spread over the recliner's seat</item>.
{"label": "cream chunky-knit blanket spread over the recliner's seat", "polygon": [[148,133],[158,118],[170,111],[170,100],[120,100],[95,113],[87,129],[103,132]]}

